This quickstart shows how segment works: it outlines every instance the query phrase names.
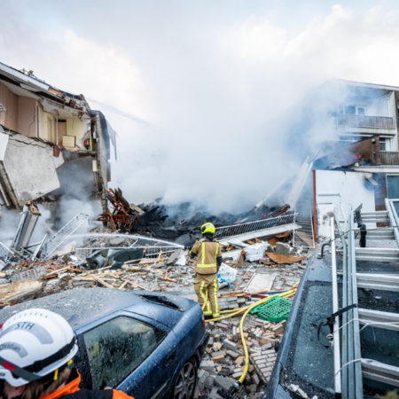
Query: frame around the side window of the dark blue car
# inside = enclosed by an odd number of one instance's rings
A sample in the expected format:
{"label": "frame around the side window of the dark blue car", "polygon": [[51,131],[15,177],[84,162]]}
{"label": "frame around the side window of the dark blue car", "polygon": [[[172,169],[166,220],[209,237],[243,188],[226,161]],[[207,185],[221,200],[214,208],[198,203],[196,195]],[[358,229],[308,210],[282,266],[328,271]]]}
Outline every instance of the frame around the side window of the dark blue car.
{"label": "frame around the side window of the dark blue car", "polygon": [[75,332],[77,335],[77,340],[78,340],[78,346],[79,346],[79,358],[80,362],[82,364],[88,364],[86,368],[84,369],[84,372],[82,372],[82,375],[86,377],[86,380],[84,381],[84,387],[88,389],[93,389],[93,376],[91,372],[91,365],[90,365],[90,358],[89,358],[89,353],[86,347],[86,342],[84,340],[84,334],[87,332],[90,332],[96,328],[98,328],[100,325],[105,325],[106,323],[112,322],[113,319],[116,319],[118,317],[128,317],[134,321],[138,321],[140,323],[143,323],[145,325],[149,325],[153,327],[155,330],[159,330],[160,332],[163,332],[162,338],[160,341],[157,342],[157,345],[153,347],[153,350],[149,352],[146,356],[143,356],[137,364],[134,365],[131,369],[129,369],[129,372],[126,372],[120,379],[115,380],[113,383],[113,389],[121,385],[121,383],[129,377],[130,374],[135,372],[138,367],[140,367],[141,364],[145,362],[145,360],[148,359],[148,357],[152,356],[153,353],[160,348],[161,343],[167,339],[168,334],[171,332],[168,327],[165,325],[161,325],[160,323],[156,322],[155,320],[145,317],[143,315],[134,313],[134,312],[129,312],[129,311],[117,311],[113,313],[112,315],[108,315],[108,317],[101,317],[98,320],[96,320],[93,323],[90,323],[90,325],[86,325],[79,329],[78,331]]}

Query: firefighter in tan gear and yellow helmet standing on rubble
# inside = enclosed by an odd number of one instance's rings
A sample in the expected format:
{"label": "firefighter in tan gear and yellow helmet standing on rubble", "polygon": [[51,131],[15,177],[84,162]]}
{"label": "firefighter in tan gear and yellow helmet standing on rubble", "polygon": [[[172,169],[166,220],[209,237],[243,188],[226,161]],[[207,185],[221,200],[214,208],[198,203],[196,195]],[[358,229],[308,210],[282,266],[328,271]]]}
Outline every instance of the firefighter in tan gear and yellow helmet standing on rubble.
{"label": "firefighter in tan gear and yellow helmet standing on rubble", "polygon": [[214,239],[215,226],[212,223],[203,224],[201,226],[201,234],[203,239],[200,239],[192,246],[189,254],[192,258],[198,256],[194,290],[197,293],[201,307],[207,298],[204,316],[209,319],[220,317],[219,301],[217,300],[219,288],[217,272],[222,265],[222,252],[220,244]]}

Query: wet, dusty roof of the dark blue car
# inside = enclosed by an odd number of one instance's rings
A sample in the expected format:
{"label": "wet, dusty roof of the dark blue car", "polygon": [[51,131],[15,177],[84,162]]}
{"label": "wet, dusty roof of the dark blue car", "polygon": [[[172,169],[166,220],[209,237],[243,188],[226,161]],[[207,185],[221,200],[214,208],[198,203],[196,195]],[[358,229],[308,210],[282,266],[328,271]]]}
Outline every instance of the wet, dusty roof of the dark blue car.
{"label": "wet, dusty roof of the dark blue car", "polygon": [[143,302],[134,293],[112,288],[79,288],[54,293],[0,310],[0,324],[21,310],[48,309],[66,318],[74,330],[117,310]]}

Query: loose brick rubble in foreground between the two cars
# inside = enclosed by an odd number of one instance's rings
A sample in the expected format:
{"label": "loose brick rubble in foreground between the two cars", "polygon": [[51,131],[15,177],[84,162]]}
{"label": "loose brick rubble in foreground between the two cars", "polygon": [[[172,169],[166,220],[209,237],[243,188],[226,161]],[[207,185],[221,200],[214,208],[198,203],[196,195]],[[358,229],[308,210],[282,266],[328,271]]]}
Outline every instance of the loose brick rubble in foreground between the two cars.
{"label": "loose brick rubble in foreground between the two cars", "polygon": [[[221,398],[217,390],[228,390],[244,372],[246,356],[239,332],[240,317],[207,324],[210,334],[206,355],[200,364],[198,397]],[[286,321],[274,324],[248,316],[244,322],[244,337],[249,364],[239,397],[262,398],[276,362],[275,347],[281,340]]]}

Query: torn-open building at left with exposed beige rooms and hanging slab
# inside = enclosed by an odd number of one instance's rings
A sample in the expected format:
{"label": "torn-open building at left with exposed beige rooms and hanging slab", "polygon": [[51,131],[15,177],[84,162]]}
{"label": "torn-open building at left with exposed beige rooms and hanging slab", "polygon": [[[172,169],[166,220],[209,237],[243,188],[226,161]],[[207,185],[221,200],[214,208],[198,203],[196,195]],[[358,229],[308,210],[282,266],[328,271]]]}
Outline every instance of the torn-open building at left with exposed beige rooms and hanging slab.
{"label": "torn-open building at left with exposed beige rooms and hanging slab", "polygon": [[38,200],[51,208],[74,180],[101,200],[111,180],[115,132],[83,95],[59,90],[32,71],[0,63],[0,195],[2,207]]}

